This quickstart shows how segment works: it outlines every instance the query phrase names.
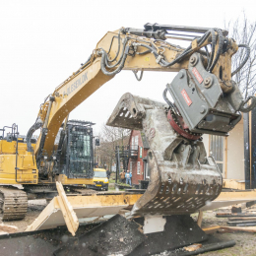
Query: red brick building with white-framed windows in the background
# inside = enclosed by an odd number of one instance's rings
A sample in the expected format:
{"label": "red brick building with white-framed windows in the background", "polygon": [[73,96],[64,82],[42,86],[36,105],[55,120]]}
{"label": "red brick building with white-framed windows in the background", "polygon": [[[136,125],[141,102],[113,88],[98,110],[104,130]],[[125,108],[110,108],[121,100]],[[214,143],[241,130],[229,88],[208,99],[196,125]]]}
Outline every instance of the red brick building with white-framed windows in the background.
{"label": "red brick building with white-framed windows in the background", "polygon": [[139,186],[140,180],[149,179],[147,153],[150,149],[149,143],[143,131],[132,130],[129,139],[130,149],[138,154],[132,156],[128,163],[128,169],[132,172],[132,184]]}

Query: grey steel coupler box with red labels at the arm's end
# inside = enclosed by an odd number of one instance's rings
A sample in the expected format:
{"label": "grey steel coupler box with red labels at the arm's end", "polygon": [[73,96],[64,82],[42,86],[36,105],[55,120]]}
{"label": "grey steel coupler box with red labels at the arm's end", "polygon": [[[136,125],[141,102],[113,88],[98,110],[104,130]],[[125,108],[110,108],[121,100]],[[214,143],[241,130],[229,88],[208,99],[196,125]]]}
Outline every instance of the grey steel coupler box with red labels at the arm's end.
{"label": "grey steel coupler box with red labels at the arm's end", "polygon": [[166,90],[192,133],[227,136],[241,120],[244,100],[238,86],[209,73],[199,53],[190,57],[188,70],[180,70]]}

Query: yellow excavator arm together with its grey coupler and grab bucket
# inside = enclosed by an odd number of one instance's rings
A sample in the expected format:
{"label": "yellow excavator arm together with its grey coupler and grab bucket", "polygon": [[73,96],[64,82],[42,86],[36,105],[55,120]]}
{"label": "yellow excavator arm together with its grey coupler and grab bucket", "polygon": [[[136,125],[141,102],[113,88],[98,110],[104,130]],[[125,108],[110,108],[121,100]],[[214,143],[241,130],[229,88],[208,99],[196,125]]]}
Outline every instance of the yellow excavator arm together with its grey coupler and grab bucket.
{"label": "yellow excavator arm together with its grey coupler and grab bucket", "polygon": [[[41,105],[27,139],[30,151],[32,132],[42,128],[34,151],[37,166],[42,156],[52,156],[54,139],[68,114],[120,71],[132,70],[139,81],[144,71],[178,72],[163,91],[165,104],[126,94],[107,122],[143,129],[149,140],[150,184],[132,213],[190,214],[217,198],[222,174],[215,160],[207,158],[201,136],[227,136],[241,119],[240,112],[256,104],[253,96],[244,100],[231,79],[248,59],[249,48],[226,34],[219,29],[156,24],[146,24],[144,30],[107,32],[88,61]],[[166,38],[191,43],[182,48]],[[238,47],[244,47],[246,54],[231,72],[231,57]]]}

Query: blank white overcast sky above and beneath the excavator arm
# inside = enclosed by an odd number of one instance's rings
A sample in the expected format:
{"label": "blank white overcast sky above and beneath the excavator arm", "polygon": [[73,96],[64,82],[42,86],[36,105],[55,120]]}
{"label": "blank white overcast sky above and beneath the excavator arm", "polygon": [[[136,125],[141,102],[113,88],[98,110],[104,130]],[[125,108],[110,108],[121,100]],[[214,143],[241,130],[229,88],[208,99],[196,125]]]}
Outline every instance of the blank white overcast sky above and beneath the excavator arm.
{"label": "blank white overcast sky above and beneath the excavator arm", "polygon": [[[17,123],[26,135],[44,97],[85,62],[97,41],[121,27],[146,23],[224,28],[245,11],[255,20],[256,1],[0,0],[0,128]],[[142,82],[122,71],[86,99],[70,119],[96,122],[96,131],[119,98],[130,92],[162,101],[175,73],[145,72]]]}

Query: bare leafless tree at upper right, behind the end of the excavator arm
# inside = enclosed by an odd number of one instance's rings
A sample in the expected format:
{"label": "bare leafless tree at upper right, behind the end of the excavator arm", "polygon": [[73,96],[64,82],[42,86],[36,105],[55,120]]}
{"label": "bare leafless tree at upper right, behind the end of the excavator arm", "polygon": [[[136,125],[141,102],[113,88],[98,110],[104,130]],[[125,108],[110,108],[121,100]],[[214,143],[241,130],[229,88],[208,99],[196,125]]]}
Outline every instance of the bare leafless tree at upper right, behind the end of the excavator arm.
{"label": "bare leafless tree at upper right, behind the end of the excavator arm", "polygon": [[[237,83],[244,97],[254,95],[256,92],[256,21],[250,22],[245,13],[242,18],[225,24],[228,37],[234,38],[237,44],[247,44],[250,47],[250,56],[232,79]],[[239,47],[238,52],[232,56],[232,72],[243,62],[246,48]]]}

